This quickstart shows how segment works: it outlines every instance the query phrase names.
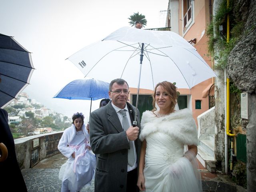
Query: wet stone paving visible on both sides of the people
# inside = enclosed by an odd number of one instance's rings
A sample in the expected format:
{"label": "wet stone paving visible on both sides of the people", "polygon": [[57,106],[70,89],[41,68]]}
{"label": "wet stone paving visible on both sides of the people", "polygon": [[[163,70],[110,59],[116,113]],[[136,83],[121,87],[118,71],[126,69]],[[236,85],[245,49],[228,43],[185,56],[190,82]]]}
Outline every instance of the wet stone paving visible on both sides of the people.
{"label": "wet stone paving visible on both sides of the people", "polygon": [[[23,169],[22,174],[26,182],[28,192],[60,192],[61,180],[59,180],[60,166],[67,158],[62,154],[56,154],[36,164],[33,168]],[[203,192],[246,192],[241,186],[225,174],[212,174],[200,165]],[[94,180],[92,184],[84,186],[80,192],[94,192]]]}

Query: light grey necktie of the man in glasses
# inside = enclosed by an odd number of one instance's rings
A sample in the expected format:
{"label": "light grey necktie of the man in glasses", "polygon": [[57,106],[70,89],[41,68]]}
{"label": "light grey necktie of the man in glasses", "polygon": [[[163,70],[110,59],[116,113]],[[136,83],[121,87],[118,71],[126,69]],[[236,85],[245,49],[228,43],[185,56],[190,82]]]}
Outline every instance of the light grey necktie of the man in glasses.
{"label": "light grey necktie of the man in glasses", "polygon": [[[123,116],[122,124],[123,124],[124,131],[126,131],[130,127],[130,124],[128,122],[128,118],[126,116],[126,110],[122,109],[119,112]],[[129,144],[130,144],[130,149],[128,149],[128,164],[130,166],[133,166],[134,162],[135,162],[135,156],[134,156],[134,148],[133,148],[133,145],[132,145],[132,141],[129,141]]]}

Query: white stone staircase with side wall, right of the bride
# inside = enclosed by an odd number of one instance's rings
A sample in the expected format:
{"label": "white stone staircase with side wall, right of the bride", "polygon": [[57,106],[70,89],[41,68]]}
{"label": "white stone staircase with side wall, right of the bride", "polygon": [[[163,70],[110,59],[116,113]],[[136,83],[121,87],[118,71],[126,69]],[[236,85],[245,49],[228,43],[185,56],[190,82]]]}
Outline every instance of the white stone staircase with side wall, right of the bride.
{"label": "white stone staircase with side wall, right of the bride", "polygon": [[215,172],[214,155],[214,107],[197,117],[198,121],[198,161],[209,171]]}

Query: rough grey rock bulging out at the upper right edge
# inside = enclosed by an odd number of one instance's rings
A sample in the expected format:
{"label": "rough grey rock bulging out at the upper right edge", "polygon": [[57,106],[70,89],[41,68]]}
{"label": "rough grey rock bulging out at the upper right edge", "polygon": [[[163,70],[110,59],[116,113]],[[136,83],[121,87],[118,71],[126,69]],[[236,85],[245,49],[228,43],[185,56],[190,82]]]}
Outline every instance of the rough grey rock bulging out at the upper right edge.
{"label": "rough grey rock bulging out at the upper right edge", "polygon": [[230,52],[227,75],[242,91],[256,91],[256,0],[235,0],[234,15],[244,22],[241,40]]}

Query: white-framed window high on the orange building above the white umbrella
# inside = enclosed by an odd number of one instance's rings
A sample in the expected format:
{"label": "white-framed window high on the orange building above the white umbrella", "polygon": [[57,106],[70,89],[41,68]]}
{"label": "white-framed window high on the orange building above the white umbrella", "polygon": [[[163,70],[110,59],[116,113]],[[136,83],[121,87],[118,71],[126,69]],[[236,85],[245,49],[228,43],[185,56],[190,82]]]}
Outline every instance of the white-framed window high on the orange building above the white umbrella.
{"label": "white-framed window high on the orange building above the white umbrella", "polygon": [[186,31],[188,26],[192,23],[193,7],[191,0],[183,0],[183,32]]}

